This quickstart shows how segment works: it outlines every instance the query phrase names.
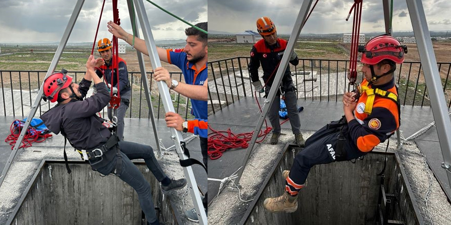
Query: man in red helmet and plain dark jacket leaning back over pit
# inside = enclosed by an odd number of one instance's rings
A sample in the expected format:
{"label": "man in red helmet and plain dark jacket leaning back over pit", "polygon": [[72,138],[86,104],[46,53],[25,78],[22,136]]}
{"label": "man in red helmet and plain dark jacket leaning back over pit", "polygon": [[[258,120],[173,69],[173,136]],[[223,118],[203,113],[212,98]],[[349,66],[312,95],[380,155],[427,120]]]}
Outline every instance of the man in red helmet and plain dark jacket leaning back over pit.
{"label": "man in red helmet and plain dark jacket leaning back over pit", "polygon": [[[103,125],[103,119],[96,113],[107,106],[111,98],[106,84],[94,72],[98,61],[92,55],[89,57],[87,72],[79,85],[72,83],[72,77],[66,74],[67,71],[50,75],[44,81],[44,98],[51,102],[57,101],[58,104],[40,118],[52,132],[61,132],[93,170],[104,175],[114,174],[135,189],[148,224],[163,224],[156,217],[151,187],[131,160],[144,159],[155,178],[161,182],[163,193],[181,189],[187,181],[185,178],[169,178],[155,159],[151,146],[120,141],[116,133],[111,133]],[[91,86],[91,79],[97,88],[97,94],[82,100]],[[67,164],[66,167],[70,172]]]}

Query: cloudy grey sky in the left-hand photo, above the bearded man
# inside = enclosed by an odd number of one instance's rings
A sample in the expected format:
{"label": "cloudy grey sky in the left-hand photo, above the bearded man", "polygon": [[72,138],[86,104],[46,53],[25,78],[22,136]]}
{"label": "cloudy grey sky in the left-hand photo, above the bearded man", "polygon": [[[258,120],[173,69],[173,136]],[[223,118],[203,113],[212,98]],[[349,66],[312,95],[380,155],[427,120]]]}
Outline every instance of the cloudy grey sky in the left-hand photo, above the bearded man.
{"label": "cloudy grey sky in the left-hand photo, above the bearded man", "polygon": [[[207,11],[206,0],[159,1],[156,3],[192,23],[199,22],[202,12],[205,14]],[[24,32],[23,35],[32,33],[60,37],[66,29],[75,4],[76,1],[73,0],[1,0],[0,30],[3,30],[3,32],[7,30],[10,33]],[[95,32],[101,4],[102,1],[85,1],[69,41],[71,39],[86,39],[86,36]],[[145,2],[144,5],[149,22],[156,28],[155,30],[165,30],[167,27],[165,24],[178,21],[150,3]],[[118,8],[122,27],[130,31],[130,16],[126,2],[120,1]],[[99,28],[99,32],[104,32],[103,35],[109,34],[106,31],[106,23],[112,18],[112,3],[107,1]],[[163,27],[161,28],[160,26]],[[172,27],[172,29],[177,28]],[[39,39],[39,37],[36,38]],[[2,39],[4,40],[5,37]],[[10,38],[8,41],[14,41],[14,39]]]}

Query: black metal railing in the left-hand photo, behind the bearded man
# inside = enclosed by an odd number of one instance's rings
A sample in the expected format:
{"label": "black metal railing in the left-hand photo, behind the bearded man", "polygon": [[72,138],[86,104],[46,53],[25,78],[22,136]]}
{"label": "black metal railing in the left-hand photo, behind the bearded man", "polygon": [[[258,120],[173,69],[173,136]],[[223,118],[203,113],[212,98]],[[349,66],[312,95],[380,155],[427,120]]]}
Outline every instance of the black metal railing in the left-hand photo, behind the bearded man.
{"label": "black metal railing in the left-hand photo, behind the bearded man", "polygon": [[[0,106],[0,115],[3,116],[26,116],[28,115],[32,104],[36,99],[38,89],[46,76],[47,71],[12,71],[0,70],[0,80],[2,85],[3,105]],[[150,118],[150,110],[147,105],[144,87],[142,86],[141,73],[129,72],[129,80],[132,88],[130,106],[126,117],[128,118]],[[153,105],[154,116],[157,119],[165,118],[165,110],[157,89],[157,85],[152,78],[153,72],[147,72],[151,89],[151,101]],[[69,76],[74,78],[74,82],[79,82],[85,76],[84,71],[68,72]],[[170,72],[171,77],[182,81],[182,73]],[[155,91],[154,91],[155,90]],[[191,101],[185,96],[171,91],[171,97],[174,103],[176,113],[185,119],[194,118],[191,112]],[[56,103],[44,102],[39,104],[39,116],[49,110]],[[3,110],[2,110],[3,108]],[[106,116],[106,110],[103,110],[102,117]]]}

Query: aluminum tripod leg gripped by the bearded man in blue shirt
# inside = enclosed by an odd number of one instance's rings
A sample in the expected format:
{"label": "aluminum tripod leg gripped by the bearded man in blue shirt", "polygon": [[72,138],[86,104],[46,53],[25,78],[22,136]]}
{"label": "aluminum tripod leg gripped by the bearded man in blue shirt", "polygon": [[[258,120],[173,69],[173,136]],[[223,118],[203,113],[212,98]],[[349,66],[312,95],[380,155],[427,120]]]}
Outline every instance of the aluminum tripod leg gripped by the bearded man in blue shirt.
{"label": "aluminum tripod leg gripped by the bearded man in blue shirt", "polygon": [[[142,33],[144,34],[144,39],[146,41],[147,51],[149,52],[150,61],[153,68],[158,68],[161,66],[160,59],[158,58],[157,49],[155,46],[155,40],[152,35],[152,30],[150,28],[149,19],[144,8],[144,4],[141,0],[134,0],[136,12],[141,24]],[[172,104],[171,95],[169,94],[168,85],[164,81],[158,81],[158,89],[160,92],[161,100],[163,100],[163,106],[165,106],[165,111],[175,112],[174,105]],[[170,128],[171,138],[174,140],[176,152],[181,160],[188,159],[180,146],[180,141],[183,140],[181,132],[177,131],[175,128]],[[200,192],[197,188],[196,178],[194,177],[193,169],[191,166],[183,167],[183,172],[188,180],[188,187],[191,192],[191,198],[193,199],[194,208],[196,209],[197,215],[199,217],[199,223],[207,225],[207,214],[203,210],[202,201],[200,199]]]}

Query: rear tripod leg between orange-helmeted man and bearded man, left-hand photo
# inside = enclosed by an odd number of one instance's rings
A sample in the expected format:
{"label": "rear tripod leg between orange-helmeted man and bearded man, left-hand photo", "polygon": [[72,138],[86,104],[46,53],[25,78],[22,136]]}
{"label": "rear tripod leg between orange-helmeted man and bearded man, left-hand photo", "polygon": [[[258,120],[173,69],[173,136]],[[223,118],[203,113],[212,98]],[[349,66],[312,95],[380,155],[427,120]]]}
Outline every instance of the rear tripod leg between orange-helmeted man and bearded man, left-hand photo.
{"label": "rear tripod leg between orange-helmeted man and bearded man, left-hand photo", "polygon": [[[138,22],[135,20],[133,21],[135,12],[132,9],[132,5],[130,1],[127,1],[127,6],[129,7],[129,14],[130,14],[130,21],[132,23],[132,29],[134,31],[138,31]],[[136,37],[139,37],[139,32],[136,32]],[[152,128],[153,128],[153,133],[155,136],[155,144],[157,146],[158,149],[158,154],[161,156],[161,147],[160,147],[160,139],[158,138],[158,131],[157,131],[157,126],[155,125],[155,116],[153,114],[153,107],[152,107],[152,101],[150,98],[150,88],[149,88],[149,80],[147,79],[147,74],[146,74],[146,67],[144,64],[144,58],[142,57],[142,53],[139,51],[136,51],[137,55],[138,55],[138,62],[139,62],[139,70],[141,71],[141,81],[142,81],[142,85],[144,86],[144,92],[146,93],[146,100],[147,100],[147,106],[149,107],[149,117],[150,120],[152,121]]]}

